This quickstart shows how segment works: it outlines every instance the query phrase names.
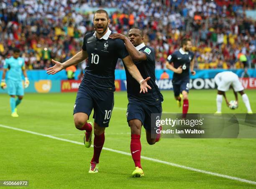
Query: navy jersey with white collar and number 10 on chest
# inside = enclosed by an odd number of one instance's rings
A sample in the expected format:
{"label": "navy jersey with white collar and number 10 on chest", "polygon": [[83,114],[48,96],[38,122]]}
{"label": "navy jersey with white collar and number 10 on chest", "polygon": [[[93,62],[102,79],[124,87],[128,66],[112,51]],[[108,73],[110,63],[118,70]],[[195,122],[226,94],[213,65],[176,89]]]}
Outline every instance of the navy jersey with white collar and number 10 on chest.
{"label": "navy jersey with white collar and number 10 on chest", "polygon": [[115,66],[118,58],[128,56],[124,42],[121,39],[108,38],[111,31],[102,38],[90,32],[84,36],[83,51],[87,51],[88,60],[84,73],[84,84],[103,90],[115,91]]}

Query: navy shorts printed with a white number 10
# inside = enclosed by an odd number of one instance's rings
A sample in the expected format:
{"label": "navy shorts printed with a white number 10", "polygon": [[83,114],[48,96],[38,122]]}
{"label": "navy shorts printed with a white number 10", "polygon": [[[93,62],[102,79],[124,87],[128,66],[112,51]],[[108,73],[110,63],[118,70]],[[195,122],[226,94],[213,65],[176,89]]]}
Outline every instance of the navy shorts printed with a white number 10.
{"label": "navy shorts printed with a white number 10", "polygon": [[73,115],[83,112],[89,117],[93,108],[95,123],[100,127],[108,127],[113,107],[114,92],[95,89],[81,83],[77,92]]}

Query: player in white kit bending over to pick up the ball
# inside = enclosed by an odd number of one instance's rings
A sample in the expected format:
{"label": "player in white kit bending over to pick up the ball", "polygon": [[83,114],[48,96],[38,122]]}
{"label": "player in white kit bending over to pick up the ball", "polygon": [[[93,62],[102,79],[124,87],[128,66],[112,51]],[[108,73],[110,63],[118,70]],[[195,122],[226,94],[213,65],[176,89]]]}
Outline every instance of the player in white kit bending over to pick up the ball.
{"label": "player in white kit bending over to pick up the ball", "polygon": [[222,96],[224,96],[226,104],[229,106],[229,102],[225,95],[225,92],[227,92],[230,87],[233,89],[237,104],[238,104],[237,92],[239,92],[243,99],[244,104],[246,105],[247,112],[252,113],[248,96],[244,93],[243,91],[244,88],[241,82],[239,81],[237,74],[229,71],[220,72],[215,76],[214,80],[215,80],[215,83],[218,85],[218,94],[216,98],[216,102],[217,102],[216,113],[221,113]]}

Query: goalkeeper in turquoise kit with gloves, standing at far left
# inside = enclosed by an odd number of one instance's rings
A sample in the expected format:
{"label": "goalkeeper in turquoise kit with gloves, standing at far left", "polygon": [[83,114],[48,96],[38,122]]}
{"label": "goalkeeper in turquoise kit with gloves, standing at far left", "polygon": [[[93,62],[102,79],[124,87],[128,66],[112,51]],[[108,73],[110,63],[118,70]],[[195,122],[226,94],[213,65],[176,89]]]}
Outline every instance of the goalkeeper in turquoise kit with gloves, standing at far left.
{"label": "goalkeeper in turquoise kit with gloves, standing at far left", "polygon": [[[5,74],[8,71],[7,82],[5,82]],[[29,81],[27,77],[27,72],[25,69],[25,61],[20,57],[20,50],[13,49],[13,56],[9,59],[5,59],[3,76],[1,80],[1,88],[5,89],[8,87],[8,95],[10,95],[10,107],[11,107],[11,116],[18,117],[17,106],[20,104],[24,96],[24,88],[22,84],[21,72],[23,72],[25,77],[25,88],[28,87]],[[15,96],[18,98],[15,99]]]}

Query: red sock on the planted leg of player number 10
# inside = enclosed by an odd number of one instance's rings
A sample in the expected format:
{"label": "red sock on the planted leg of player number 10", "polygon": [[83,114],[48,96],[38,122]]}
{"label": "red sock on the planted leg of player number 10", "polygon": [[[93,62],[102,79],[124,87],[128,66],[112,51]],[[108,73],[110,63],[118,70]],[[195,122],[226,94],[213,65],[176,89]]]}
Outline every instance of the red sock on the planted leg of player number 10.
{"label": "red sock on the planted leg of player number 10", "polygon": [[91,162],[99,163],[100,152],[103,148],[103,144],[105,141],[105,134],[102,133],[101,135],[94,134],[94,141],[93,141],[93,157]]}

